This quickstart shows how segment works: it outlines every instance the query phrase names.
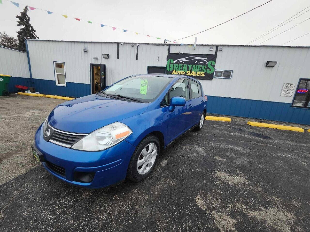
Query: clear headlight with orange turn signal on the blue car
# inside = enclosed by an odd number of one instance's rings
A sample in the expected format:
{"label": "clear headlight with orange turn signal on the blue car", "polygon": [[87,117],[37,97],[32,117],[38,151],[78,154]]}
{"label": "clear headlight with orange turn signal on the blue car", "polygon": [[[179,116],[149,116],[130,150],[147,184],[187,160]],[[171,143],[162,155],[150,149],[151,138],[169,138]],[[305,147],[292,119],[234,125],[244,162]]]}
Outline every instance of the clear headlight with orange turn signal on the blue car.
{"label": "clear headlight with orange turn signal on the blue car", "polygon": [[91,132],[71,148],[82,151],[100,151],[121,142],[132,133],[124,123],[114,122]]}

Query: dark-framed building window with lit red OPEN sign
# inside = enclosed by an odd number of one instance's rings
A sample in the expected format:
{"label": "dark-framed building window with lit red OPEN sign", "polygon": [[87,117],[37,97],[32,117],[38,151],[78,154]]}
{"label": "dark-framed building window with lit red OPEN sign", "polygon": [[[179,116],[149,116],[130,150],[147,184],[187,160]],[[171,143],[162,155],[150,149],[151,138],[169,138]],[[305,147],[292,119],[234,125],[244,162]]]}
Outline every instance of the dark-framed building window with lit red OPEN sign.
{"label": "dark-framed building window with lit red OPEN sign", "polygon": [[310,109],[310,79],[300,79],[292,107]]}

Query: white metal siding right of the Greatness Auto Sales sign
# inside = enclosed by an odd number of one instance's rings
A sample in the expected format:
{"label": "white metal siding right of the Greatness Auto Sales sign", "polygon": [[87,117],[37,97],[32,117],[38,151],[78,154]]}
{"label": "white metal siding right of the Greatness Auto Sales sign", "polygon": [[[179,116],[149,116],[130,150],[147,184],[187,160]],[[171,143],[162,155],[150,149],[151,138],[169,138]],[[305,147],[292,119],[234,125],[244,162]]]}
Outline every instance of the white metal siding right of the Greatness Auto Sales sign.
{"label": "white metal siding right of the Greatness Auto Sales sign", "polygon": [[[275,67],[265,67],[277,61]],[[232,79],[201,80],[206,95],[291,103],[299,78],[309,78],[309,48],[224,46],[215,69],[233,70]],[[281,97],[284,83],[295,83],[292,97]]]}

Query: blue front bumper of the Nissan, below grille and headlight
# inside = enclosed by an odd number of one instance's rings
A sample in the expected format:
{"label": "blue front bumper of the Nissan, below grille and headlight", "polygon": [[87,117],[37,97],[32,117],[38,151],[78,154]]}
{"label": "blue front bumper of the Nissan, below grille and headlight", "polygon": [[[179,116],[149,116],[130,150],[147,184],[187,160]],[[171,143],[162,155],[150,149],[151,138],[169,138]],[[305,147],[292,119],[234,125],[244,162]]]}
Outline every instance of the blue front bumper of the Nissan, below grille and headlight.
{"label": "blue front bumper of the Nissan, below grille and headlight", "polygon": [[[47,171],[69,184],[86,188],[101,188],[122,182],[135,150],[125,140],[97,152],[62,147],[43,139],[42,125],[35,134],[33,147],[42,153],[42,165]],[[90,182],[77,181],[76,176],[80,173],[91,173],[93,179]]]}

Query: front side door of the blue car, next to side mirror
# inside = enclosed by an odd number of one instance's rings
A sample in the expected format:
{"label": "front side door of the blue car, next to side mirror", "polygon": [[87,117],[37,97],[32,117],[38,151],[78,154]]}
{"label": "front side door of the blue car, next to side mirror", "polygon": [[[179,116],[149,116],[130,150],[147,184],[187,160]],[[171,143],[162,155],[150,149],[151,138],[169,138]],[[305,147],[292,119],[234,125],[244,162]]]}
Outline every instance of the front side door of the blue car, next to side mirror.
{"label": "front side door of the blue car, next to side mirror", "polygon": [[191,112],[189,108],[189,83],[188,79],[179,79],[169,90],[169,102],[172,97],[184,97],[184,106],[176,106],[172,112],[168,111],[168,143],[182,135],[190,126]]}

